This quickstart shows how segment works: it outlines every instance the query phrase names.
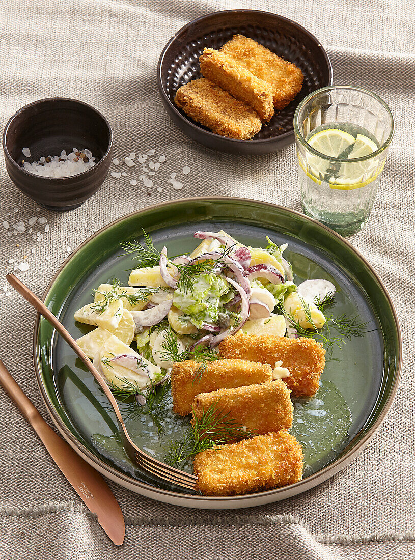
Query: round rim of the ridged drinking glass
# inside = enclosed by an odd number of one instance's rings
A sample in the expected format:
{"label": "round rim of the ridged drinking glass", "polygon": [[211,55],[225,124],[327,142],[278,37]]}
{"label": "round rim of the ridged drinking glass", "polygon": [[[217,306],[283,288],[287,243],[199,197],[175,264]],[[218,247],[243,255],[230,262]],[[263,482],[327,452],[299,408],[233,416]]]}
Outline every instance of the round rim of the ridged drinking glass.
{"label": "round rim of the ridged drinking glass", "polygon": [[[306,141],[306,139],[304,138],[304,136],[300,132],[300,128],[299,128],[299,124],[298,124],[298,118],[299,118],[300,111],[302,110],[304,105],[310,99],[313,99],[313,97],[316,97],[316,96],[322,94],[323,92],[333,91],[333,90],[341,90],[341,89],[356,91],[358,93],[366,94],[366,95],[369,95],[369,96],[373,97],[374,99],[379,101],[379,103],[385,108],[386,113],[388,113],[388,115],[389,115],[391,126],[390,126],[390,133],[389,133],[388,138],[386,138],[385,142],[377,150],[375,150],[372,153],[367,154],[367,156],[355,157],[351,160],[344,160],[344,159],[339,158],[339,157],[330,157],[327,154],[321,153],[318,150],[315,150],[315,148],[313,148],[312,146],[310,146],[310,144]],[[386,103],[386,101],[384,101],[381,97],[379,97],[379,95],[374,94],[372,91],[365,90],[365,88],[363,88],[363,87],[348,86],[348,85],[341,85],[341,84],[335,85],[335,86],[320,87],[319,90],[313,91],[311,94],[307,95],[307,97],[305,97],[300,102],[300,104],[297,106],[297,109],[295,110],[293,125],[294,125],[294,135],[295,135],[296,141],[299,141],[300,144],[302,144],[302,146],[304,146],[304,148],[306,150],[313,153],[315,156],[320,157],[323,160],[339,162],[341,164],[356,164],[358,162],[367,161],[367,160],[370,160],[372,157],[378,156],[380,153],[384,152],[386,150],[386,148],[389,147],[389,144],[392,141],[392,138],[393,138],[393,135],[394,135],[394,132],[395,132],[395,120],[393,118],[392,111],[390,110],[389,105]]]}

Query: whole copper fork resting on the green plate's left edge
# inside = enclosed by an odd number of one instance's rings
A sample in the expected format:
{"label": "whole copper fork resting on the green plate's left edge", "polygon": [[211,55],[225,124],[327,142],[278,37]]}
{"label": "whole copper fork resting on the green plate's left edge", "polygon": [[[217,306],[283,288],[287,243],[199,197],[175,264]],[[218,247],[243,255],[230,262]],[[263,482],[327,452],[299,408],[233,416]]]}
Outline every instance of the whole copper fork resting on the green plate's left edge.
{"label": "whole copper fork resting on the green plate's left edge", "polygon": [[72,338],[71,334],[68,333],[66,328],[59,322],[59,320],[53,315],[53,313],[39,300],[38,297],[34,295],[33,292],[14,274],[11,272],[6,274],[7,281],[15,288],[15,290],[22,295],[29,304],[36,309],[49,323],[54,327],[55,330],[60,334],[60,336],[66,340],[73,351],[80,357],[80,360],[88,368],[91,374],[95,377],[97,383],[100,385],[102,391],[104,391],[106,397],[108,398],[111,407],[113,407],[115,416],[118,422],[118,427],[120,435],[122,437],[124,449],[127,452],[129,458],[136,464],[139,468],[150,473],[164,482],[170,482],[186,490],[195,489],[196,477],[193,474],[184,473],[182,470],[175,469],[170,465],[161,463],[157,459],[154,459],[147,453],[144,453],[136,444],[132,441],[128,435],[127,428],[125,427],[123,418],[118,408],[118,404],[111,393],[108,385],[105,382],[104,377],[93,365],[91,360],[86,356],[85,352],[78,346],[75,340]]}

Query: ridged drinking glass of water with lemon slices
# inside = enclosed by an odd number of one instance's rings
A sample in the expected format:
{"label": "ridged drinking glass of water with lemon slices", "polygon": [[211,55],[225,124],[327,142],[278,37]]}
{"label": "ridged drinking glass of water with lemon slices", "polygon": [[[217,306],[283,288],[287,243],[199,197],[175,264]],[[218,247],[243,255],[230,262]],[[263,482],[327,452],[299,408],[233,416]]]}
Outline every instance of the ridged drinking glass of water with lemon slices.
{"label": "ridged drinking glass of water with lemon slices", "polygon": [[[327,129],[360,134],[374,151],[357,158],[348,158],[347,150],[338,157],[325,155],[309,141]],[[304,213],[344,237],[356,233],[369,219],[393,137],[388,105],[362,88],[323,87],[297,107],[294,132]]]}

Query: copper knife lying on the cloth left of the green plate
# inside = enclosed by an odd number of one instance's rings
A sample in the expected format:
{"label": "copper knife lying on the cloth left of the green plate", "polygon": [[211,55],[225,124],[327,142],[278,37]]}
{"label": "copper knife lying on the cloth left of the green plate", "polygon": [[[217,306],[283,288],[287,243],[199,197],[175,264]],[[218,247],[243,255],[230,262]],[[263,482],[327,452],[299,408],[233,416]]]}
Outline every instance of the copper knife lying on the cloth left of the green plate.
{"label": "copper knife lying on the cloth left of the green plate", "polygon": [[40,416],[0,360],[0,385],[40,437],[50,456],[114,544],[124,542],[124,517],[114,494],[101,475],[67,444]]}

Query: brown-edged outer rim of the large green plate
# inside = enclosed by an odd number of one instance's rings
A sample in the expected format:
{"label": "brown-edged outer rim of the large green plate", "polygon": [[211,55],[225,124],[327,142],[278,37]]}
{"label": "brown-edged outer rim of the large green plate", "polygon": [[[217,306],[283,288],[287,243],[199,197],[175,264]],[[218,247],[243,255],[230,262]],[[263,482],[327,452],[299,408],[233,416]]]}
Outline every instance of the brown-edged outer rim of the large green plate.
{"label": "brown-edged outer rim of the large green plate", "polygon": [[[50,403],[48,398],[48,392],[46,391],[42,382],[42,371],[41,371],[41,365],[39,360],[39,354],[37,351],[40,314],[39,312],[36,313],[34,332],[32,338],[32,351],[33,351],[33,361],[34,361],[34,368],[35,368],[35,377],[46,410],[48,410],[49,416],[52,419],[55,426],[57,427],[57,429],[59,430],[60,434],[64,437],[64,439],[68,442],[68,444],[71,445],[71,447],[80,456],[82,456],[83,459],[87,461],[87,463],[89,463],[95,469],[99,470],[101,474],[104,474],[106,477],[110,478],[111,480],[114,480],[114,482],[136,493],[142,494],[144,496],[151,497],[153,499],[162,502],[172,503],[184,507],[207,508],[207,509],[217,509],[217,508],[230,509],[230,508],[251,507],[255,505],[259,506],[264,503],[271,503],[275,501],[285,500],[288,497],[295,496],[297,494],[305,492],[323,483],[325,480],[331,478],[333,475],[337,474],[340,470],[342,470],[348,464],[350,464],[352,460],[355,459],[355,457],[358,454],[360,454],[367,447],[367,445],[369,445],[370,441],[375,437],[376,433],[379,431],[380,427],[385,422],[385,419],[388,416],[390,409],[394,403],[399,388],[399,382],[402,373],[403,339],[402,339],[402,329],[400,328],[398,314],[395,309],[393,300],[391,299],[384,282],[379,277],[379,275],[372,267],[372,265],[365,258],[365,256],[363,256],[360,253],[360,251],[358,251],[347,239],[344,239],[344,237],[337,234],[337,232],[331,230],[329,227],[325,226],[324,224],[318,222],[317,220],[314,220],[314,218],[310,218],[309,216],[306,216],[301,212],[298,212],[291,208],[287,208],[285,206],[282,206],[281,204],[274,204],[272,202],[267,202],[264,200],[243,198],[243,197],[186,197],[186,198],[167,200],[166,202],[160,202],[157,204],[151,204],[150,206],[145,206],[136,211],[124,214],[124,216],[121,216],[116,220],[111,221],[110,223],[106,224],[105,226],[102,226],[99,230],[91,234],[89,237],[87,237],[85,241],[83,241],[80,245],[78,245],[77,248],[74,251],[72,251],[70,255],[67,256],[67,258],[63,261],[62,264],[60,264],[59,268],[53,274],[53,277],[50,279],[49,283],[47,284],[45,291],[41,297],[41,301],[43,302],[45,301],[46,297],[49,294],[49,291],[52,289],[54,283],[57,281],[60,273],[66,267],[66,265],[72,260],[73,256],[76,253],[78,253],[78,251],[80,251],[83,248],[83,246],[87,245],[92,239],[99,236],[105,230],[108,230],[109,228],[115,226],[117,223],[127,220],[130,217],[137,216],[143,212],[148,212],[148,211],[151,212],[157,208],[169,207],[174,204],[181,204],[187,202],[227,203],[230,200],[236,202],[244,202],[244,203],[246,202],[259,203],[259,204],[263,204],[264,206],[271,207],[283,212],[292,213],[295,216],[301,217],[305,221],[309,221],[314,225],[320,227],[327,234],[334,237],[334,239],[343,242],[343,244],[346,245],[347,248],[350,249],[357,256],[357,258],[362,261],[366,269],[368,269],[369,272],[374,276],[376,282],[379,284],[381,290],[384,292],[384,295],[386,297],[386,300],[388,301],[390,310],[393,315],[394,323],[398,334],[398,362],[396,367],[396,378],[393,386],[391,387],[388,399],[386,400],[383,409],[381,409],[379,413],[379,417],[375,420],[374,424],[369,428],[369,430],[365,433],[362,439],[359,442],[357,442],[355,446],[349,449],[346,452],[346,454],[344,454],[341,458],[325,466],[323,469],[318,470],[316,473],[309,475],[305,479],[302,479],[294,484],[289,484],[288,486],[269,489],[262,492],[241,494],[238,496],[199,496],[198,494],[182,494],[179,492],[174,492],[171,490],[165,490],[162,488],[151,486],[150,484],[146,484],[139,480],[133,479],[132,477],[128,476],[125,473],[119,472],[119,470],[116,470],[115,468],[113,468],[113,466],[106,464],[100,458],[97,458],[94,454],[92,454],[85,446],[82,445],[80,441],[77,440],[77,438],[72,434],[72,432],[68,430],[68,428],[60,418],[59,414],[55,411],[52,403]],[[300,490],[297,491],[299,488]],[[253,503],[247,503],[247,502],[253,502]]]}

